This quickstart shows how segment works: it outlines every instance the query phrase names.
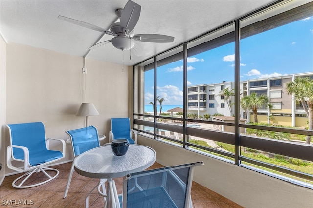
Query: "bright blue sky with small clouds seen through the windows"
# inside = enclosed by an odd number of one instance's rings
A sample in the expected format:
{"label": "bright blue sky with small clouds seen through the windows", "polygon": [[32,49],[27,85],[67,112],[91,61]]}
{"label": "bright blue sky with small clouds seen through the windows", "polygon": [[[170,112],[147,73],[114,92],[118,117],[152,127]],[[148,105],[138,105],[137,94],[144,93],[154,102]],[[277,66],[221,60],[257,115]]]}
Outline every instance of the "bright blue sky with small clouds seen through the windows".
{"label": "bright blue sky with small clouds seen through the windows", "polygon": [[[313,71],[313,17],[248,37],[240,43],[240,79]],[[157,68],[163,105],[182,105],[183,62]],[[188,57],[188,85],[234,81],[234,43]],[[145,104],[153,101],[153,70],[145,72]]]}

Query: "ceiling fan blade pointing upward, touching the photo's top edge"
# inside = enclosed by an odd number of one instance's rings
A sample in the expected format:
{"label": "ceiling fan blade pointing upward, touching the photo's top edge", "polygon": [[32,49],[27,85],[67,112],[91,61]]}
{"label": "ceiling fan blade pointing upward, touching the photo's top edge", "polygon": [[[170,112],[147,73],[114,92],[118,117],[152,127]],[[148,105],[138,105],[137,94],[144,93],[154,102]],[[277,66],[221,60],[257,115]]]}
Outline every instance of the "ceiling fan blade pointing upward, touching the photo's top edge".
{"label": "ceiling fan blade pointing upward, touching the photo's top edge", "polygon": [[120,26],[124,32],[128,33],[136,26],[140,16],[141,6],[129,0],[122,12],[120,18]]}

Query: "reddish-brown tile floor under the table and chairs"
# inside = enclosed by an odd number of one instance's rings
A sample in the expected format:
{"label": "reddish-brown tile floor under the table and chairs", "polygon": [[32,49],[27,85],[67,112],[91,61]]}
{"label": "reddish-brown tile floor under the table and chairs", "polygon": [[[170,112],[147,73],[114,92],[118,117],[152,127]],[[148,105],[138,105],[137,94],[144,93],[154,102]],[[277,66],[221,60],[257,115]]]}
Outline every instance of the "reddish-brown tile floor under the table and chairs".
{"label": "reddish-brown tile floor under the table and chairs", "polygon": [[[87,193],[98,183],[98,179],[91,179],[73,173],[67,197],[63,199],[67,185],[70,163],[53,166],[60,171],[59,176],[41,186],[17,189],[12,187],[12,181],[17,175],[7,176],[0,187],[0,207],[1,208],[84,208]],[[150,168],[162,167],[155,163]],[[34,180],[40,180],[44,175],[37,173]],[[44,176],[45,177],[45,176]],[[118,193],[122,192],[122,178],[115,179]],[[191,197],[194,208],[242,208],[238,204],[225,197],[193,182]],[[15,200],[15,201],[14,201]],[[21,201],[23,200],[23,201]],[[8,205],[11,202],[13,205]],[[94,190],[89,196],[89,207],[100,208],[104,206],[103,198]]]}

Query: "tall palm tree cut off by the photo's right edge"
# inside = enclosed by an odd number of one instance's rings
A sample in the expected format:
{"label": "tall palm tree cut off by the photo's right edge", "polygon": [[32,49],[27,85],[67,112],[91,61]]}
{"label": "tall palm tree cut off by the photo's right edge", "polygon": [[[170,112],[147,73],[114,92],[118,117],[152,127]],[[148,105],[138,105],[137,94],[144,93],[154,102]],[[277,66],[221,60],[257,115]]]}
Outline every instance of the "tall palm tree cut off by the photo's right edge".
{"label": "tall palm tree cut off by the photo's right edge", "polygon": [[[313,80],[309,78],[296,77],[294,81],[287,83],[288,94],[294,95],[294,100],[301,103],[309,119],[308,130],[313,129]],[[306,136],[305,142],[310,144],[311,136]]]}

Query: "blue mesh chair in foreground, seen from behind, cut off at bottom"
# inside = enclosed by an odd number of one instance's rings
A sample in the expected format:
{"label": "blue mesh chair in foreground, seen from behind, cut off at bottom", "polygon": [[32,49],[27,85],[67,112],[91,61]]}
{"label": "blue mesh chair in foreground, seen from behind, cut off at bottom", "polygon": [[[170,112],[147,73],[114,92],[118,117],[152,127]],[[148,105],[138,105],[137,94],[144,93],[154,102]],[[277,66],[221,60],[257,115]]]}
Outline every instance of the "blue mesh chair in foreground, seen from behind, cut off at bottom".
{"label": "blue mesh chair in foreground, seen from behind, cut off at bottom", "polygon": [[124,177],[123,208],[192,208],[193,168],[201,162],[131,173]]}

